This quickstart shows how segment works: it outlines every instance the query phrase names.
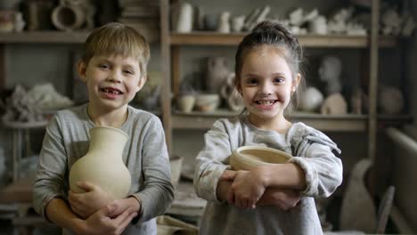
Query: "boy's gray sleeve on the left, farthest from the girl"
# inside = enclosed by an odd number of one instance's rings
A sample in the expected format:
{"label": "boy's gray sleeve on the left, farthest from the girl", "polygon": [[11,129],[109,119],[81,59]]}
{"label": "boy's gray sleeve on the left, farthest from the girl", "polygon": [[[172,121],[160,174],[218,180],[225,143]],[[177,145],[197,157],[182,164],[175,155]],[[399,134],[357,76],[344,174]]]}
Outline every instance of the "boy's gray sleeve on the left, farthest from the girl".
{"label": "boy's gray sleeve on the left, farthest from the girl", "polygon": [[66,154],[62,142],[60,123],[54,116],[46,126],[45,138],[37,164],[37,178],[33,186],[33,207],[45,216],[45,207],[53,198],[66,196]]}

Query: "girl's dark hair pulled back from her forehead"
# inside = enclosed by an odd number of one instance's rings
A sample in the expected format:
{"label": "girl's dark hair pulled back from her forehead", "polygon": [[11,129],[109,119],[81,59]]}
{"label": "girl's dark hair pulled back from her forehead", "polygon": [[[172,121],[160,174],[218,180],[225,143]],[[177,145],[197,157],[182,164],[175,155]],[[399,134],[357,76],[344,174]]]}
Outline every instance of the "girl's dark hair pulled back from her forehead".
{"label": "girl's dark hair pulled back from her forehead", "polygon": [[[292,77],[294,78],[298,73],[301,74],[300,64],[303,60],[303,50],[298,43],[297,37],[293,36],[287,28],[282,24],[273,21],[262,21],[253,28],[247,36],[244,36],[238,46],[235,55],[236,85],[239,85],[239,78],[241,77],[241,67],[246,55],[262,46],[271,46],[279,49],[290,66]],[[283,50],[282,50],[283,49]],[[298,93],[294,94],[296,102],[298,101]],[[291,109],[291,108],[290,108]]]}

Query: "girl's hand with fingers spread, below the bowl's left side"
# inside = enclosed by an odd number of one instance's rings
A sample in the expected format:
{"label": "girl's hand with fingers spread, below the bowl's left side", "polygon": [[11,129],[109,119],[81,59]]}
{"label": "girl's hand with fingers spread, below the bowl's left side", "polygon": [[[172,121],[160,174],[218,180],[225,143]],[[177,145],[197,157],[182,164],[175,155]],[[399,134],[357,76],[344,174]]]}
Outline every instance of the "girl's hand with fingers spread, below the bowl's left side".
{"label": "girl's hand with fingers spread, below the bowl's left side", "polygon": [[227,192],[227,201],[237,207],[255,208],[256,203],[266,190],[261,181],[261,172],[237,171],[233,183]]}

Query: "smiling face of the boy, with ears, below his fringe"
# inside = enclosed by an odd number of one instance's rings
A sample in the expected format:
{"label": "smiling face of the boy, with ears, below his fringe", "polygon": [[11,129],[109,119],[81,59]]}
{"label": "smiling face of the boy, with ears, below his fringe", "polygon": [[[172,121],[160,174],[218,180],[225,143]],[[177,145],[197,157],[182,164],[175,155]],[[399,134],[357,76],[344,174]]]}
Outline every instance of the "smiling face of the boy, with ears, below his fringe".
{"label": "smiling face of the boy, with ears, below his fringe", "polygon": [[78,73],[86,82],[93,109],[126,108],[146,81],[137,59],[119,55],[94,56],[88,64],[80,61]]}

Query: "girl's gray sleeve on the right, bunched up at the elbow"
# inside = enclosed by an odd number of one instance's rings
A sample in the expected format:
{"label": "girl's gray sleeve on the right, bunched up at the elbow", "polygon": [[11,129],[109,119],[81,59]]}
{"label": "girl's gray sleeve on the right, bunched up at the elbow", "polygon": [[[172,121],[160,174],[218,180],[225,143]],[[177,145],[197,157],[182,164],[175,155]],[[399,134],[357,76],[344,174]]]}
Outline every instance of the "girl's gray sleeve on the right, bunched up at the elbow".
{"label": "girl's gray sleeve on the right, bunched up at the elbow", "polygon": [[340,153],[336,144],[325,134],[312,131],[300,137],[297,152],[290,162],[298,164],[306,175],[307,188],[303,194],[310,197],[329,197],[342,182],[343,166],[332,150]]}

